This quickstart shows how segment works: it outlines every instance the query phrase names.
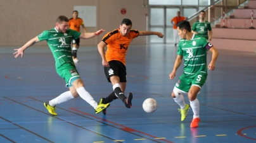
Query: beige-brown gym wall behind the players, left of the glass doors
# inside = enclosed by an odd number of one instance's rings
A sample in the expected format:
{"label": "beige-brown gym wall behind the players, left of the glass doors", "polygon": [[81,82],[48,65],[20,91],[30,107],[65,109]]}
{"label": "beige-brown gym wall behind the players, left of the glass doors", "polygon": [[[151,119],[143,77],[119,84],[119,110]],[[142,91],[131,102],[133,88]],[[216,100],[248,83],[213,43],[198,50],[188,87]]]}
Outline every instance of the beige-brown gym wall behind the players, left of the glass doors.
{"label": "beige-brown gym wall behind the players, left of the glass doors", "polygon": [[[132,21],[132,28],[146,30],[147,8],[145,0],[0,0],[0,46],[21,46],[44,30],[54,28],[56,18],[65,15],[72,17],[74,6],[96,6],[97,26],[87,31],[94,32],[101,28],[106,31],[96,38],[81,40],[80,45],[96,45],[103,35],[119,27],[123,18]],[[127,13],[121,14],[125,8]],[[146,37],[135,38],[131,44],[144,44]],[[36,45],[46,45],[39,42]]]}

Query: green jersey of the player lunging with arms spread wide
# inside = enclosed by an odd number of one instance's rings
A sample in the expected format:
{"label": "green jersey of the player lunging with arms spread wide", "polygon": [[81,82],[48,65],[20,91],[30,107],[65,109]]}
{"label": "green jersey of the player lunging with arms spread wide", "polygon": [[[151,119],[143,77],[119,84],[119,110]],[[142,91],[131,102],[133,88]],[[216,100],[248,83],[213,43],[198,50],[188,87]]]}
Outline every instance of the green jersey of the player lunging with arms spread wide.
{"label": "green jersey of the player lunging with arms spread wide", "polygon": [[47,41],[55,59],[56,69],[58,69],[58,67],[67,62],[74,64],[70,44],[72,42],[72,38],[79,38],[80,35],[81,33],[75,30],[69,29],[66,33],[61,33],[56,30],[56,28],[53,28],[51,30],[43,31],[37,37],[40,41]]}

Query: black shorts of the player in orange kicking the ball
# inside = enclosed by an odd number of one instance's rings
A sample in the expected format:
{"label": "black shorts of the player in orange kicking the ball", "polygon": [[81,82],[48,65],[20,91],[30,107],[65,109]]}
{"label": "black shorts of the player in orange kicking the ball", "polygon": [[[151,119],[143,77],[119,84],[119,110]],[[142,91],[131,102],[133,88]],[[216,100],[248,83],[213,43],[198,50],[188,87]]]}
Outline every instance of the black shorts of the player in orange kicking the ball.
{"label": "black shorts of the player in orange kicking the ball", "polygon": [[120,78],[120,83],[126,83],[126,67],[124,64],[118,60],[111,60],[108,64],[110,67],[104,67],[108,82],[111,82],[111,76],[118,76]]}

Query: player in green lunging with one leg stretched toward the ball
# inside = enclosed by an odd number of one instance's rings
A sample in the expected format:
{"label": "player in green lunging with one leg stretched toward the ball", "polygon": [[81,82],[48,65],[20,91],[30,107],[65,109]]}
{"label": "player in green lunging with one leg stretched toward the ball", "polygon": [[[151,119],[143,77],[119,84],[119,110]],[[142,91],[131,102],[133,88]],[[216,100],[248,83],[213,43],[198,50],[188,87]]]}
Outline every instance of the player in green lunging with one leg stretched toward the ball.
{"label": "player in green lunging with one leg stretched toward the ball", "polygon": [[83,100],[86,100],[96,113],[101,112],[109,106],[109,104],[99,104],[94,101],[91,94],[89,94],[84,88],[84,83],[80,79],[79,73],[75,68],[75,64],[72,59],[71,42],[72,38],[92,38],[101,34],[105,30],[98,30],[95,33],[80,33],[75,30],[68,29],[68,18],[66,16],[59,16],[56,20],[55,28],[51,30],[45,30],[40,35],[29,40],[20,49],[15,49],[15,58],[21,55],[23,57],[24,50],[34,45],[34,43],[46,40],[53,57],[56,62],[56,72],[66,81],[66,86],[70,91],[60,94],[60,96],[45,102],[44,106],[51,115],[57,115],[55,112],[55,105],[71,100],[77,96],[80,96]]}

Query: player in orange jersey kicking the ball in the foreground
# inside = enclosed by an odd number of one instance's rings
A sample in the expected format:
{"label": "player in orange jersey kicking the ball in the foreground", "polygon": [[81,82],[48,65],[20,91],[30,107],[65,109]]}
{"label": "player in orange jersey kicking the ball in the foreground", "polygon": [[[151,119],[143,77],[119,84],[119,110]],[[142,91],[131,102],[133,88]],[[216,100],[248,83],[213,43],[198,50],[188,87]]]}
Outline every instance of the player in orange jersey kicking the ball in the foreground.
{"label": "player in orange jersey kicking the ball in the foreground", "polygon": [[[106,78],[113,85],[113,92],[106,98],[101,98],[99,103],[110,103],[119,98],[127,108],[132,106],[132,93],[124,96],[126,87],[125,55],[133,38],[145,35],[157,35],[162,38],[163,34],[157,31],[132,30],[132,21],[124,19],[118,29],[108,32],[98,44],[102,65],[105,69]],[[105,46],[107,47],[105,53]],[[106,114],[106,110],[103,110]]]}

